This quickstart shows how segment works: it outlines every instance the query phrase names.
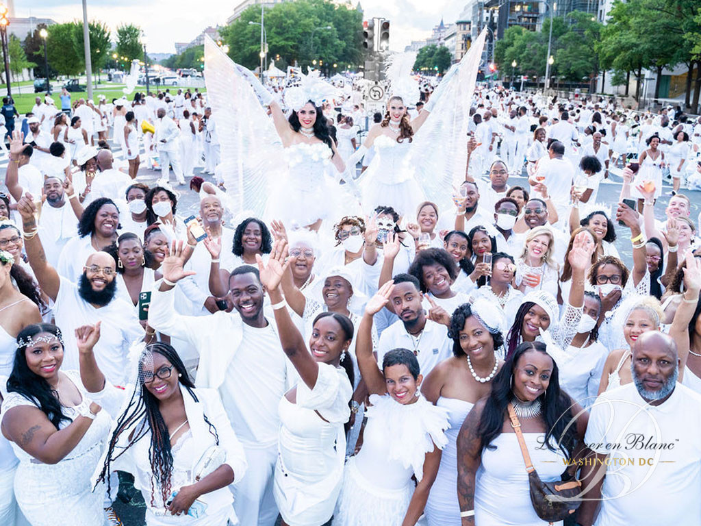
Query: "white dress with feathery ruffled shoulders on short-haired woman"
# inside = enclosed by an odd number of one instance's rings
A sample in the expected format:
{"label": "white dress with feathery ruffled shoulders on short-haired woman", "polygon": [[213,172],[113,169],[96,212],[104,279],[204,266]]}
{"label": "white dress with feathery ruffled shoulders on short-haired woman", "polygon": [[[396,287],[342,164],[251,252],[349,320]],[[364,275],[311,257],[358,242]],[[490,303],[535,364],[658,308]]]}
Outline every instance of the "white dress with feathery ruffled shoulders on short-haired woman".
{"label": "white dress with feathery ruffled shoulders on short-haired woman", "polygon": [[411,476],[420,481],[426,453],[448,443],[446,410],[421,395],[407,405],[370,395],[370,403],[362,449],[346,463],[333,526],[400,526],[414,494]]}

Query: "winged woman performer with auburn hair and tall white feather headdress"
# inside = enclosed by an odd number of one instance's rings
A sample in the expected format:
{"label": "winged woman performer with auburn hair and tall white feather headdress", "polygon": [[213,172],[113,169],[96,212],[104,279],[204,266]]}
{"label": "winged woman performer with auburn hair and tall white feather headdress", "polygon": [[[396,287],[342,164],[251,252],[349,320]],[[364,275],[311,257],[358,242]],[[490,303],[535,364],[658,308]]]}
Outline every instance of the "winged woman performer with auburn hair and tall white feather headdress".
{"label": "winged woman performer with auburn hair and tall white feather headdress", "polygon": [[[416,53],[402,53],[391,59],[385,120],[370,130],[367,140],[348,160],[349,166],[355,166],[374,147],[375,155],[360,184],[366,213],[372,213],[378,205],[390,205],[406,217],[413,215],[416,205],[425,199],[440,207],[451,206],[453,184],[464,179],[465,135],[484,36],[483,31],[411,121],[408,116],[394,120],[391,108],[398,101],[407,108],[419,100],[418,83],[411,77]],[[407,137],[407,127],[414,134],[411,137]]]}

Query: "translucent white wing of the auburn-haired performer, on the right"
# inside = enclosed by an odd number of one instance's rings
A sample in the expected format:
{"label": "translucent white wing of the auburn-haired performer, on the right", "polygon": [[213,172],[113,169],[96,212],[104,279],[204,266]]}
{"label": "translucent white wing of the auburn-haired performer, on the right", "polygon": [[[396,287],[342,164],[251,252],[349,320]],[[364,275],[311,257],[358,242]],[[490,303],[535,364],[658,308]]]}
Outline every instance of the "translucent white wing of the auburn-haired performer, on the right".
{"label": "translucent white wing of the auburn-haired performer, on the right", "polygon": [[468,159],[470,103],[482,62],[486,29],[472,43],[467,55],[436,88],[433,111],[414,136],[408,166],[429,201],[442,207],[452,205],[453,185],[465,178]]}

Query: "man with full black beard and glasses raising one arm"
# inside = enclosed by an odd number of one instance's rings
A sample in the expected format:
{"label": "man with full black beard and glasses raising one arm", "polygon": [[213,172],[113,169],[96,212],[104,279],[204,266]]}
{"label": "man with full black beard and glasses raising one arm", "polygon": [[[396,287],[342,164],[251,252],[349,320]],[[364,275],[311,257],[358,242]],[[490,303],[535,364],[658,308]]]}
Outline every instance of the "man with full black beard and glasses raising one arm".
{"label": "man with full black beard and glasses raising one arm", "polygon": [[[27,197],[17,203],[25,232],[36,230],[35,206]],[[64,338],[63,367],[77,370],[78,346],[76,328],[101,322],[100,342],[95,358],[100,370],[114,385],[127,380],[128,351],[132,343],[144,337],[133,305],[116,297],[116,264],[107,252],[95,252],[86,260],[78,283],[59,276],[46,260],[39,236],[25,236],[27,258],[41,290],[53,299],[56,325]]]}

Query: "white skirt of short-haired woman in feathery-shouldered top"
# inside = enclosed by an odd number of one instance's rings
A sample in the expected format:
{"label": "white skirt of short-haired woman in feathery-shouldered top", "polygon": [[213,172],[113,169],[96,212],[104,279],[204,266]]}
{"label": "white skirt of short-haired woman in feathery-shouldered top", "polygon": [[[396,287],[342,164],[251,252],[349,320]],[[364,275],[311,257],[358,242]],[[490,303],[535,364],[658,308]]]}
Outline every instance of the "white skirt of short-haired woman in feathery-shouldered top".
{"label": "white skirt of short-haired woman in feathery-shouldered top", "polygon": [[409,508],[414,484],[401,490],[374,485],[348,459],[343,473],[343,488],[336,504],[333,526],[401,526]]}

